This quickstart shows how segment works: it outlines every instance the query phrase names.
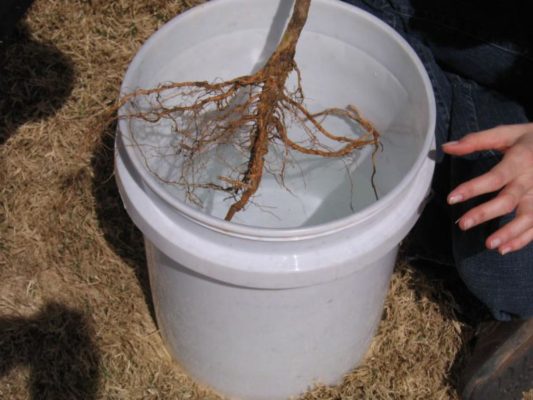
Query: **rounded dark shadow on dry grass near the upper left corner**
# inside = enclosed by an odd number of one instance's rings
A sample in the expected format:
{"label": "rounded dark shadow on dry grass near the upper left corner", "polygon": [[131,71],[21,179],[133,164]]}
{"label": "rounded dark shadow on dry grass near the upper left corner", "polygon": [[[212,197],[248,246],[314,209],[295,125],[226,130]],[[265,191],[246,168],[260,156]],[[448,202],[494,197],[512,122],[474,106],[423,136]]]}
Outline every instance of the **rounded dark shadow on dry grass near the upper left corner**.
{"label": "rounded dark shadow on dry grass near the upper left corner", "polygon": [[[20,24],[8,31],[0,15],[0,145],[26,122],[54,115],[74,84],[74,67],[53,44],[35,40]],[[3,31],[6,31],[3,33]]]}

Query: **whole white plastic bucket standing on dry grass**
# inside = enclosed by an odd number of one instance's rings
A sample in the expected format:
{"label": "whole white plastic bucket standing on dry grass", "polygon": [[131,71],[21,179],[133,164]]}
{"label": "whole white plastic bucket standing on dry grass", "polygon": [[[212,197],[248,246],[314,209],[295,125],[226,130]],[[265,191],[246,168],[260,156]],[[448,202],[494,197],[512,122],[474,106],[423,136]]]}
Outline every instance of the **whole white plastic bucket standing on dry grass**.
{"label": "whole white plastic bucket standing on dry grass", "polygon": [[[137,54],[123,93],[249,73],[275,47],[291,6],[215,0],[176,17]],[[116,177],[145,236],[161,334],[191,376],[232,398],[285,399],[334,384],[360,362],[433,173],[431,85],[390,27],[345,3],[313,0],[296,59],[311,102],[355,104],[382,132],[378,201],[358,197],[372,172],[363,151],[356,168],[303,160],[309,176],[303,186],[292,180],[294,204],[266,181],[261,199],[274,212],[251,204],[226,222],[217,207],[195,208],[150,174],[129,145],[130,124],[119,123]]]}

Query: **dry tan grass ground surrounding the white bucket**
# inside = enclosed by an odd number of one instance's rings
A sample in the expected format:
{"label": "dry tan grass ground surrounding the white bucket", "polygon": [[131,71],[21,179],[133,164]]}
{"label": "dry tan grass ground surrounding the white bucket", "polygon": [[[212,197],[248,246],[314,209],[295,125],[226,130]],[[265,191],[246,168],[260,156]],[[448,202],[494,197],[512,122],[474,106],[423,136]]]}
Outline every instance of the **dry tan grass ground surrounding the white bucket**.
{"label": "dry tan grass ground surrounding the white bucket", "polygon": [[[112,132],[91,129],[141,43],[195,3],[37,0],[1,50],[1,399],[219,398],[163,347]],[[445,286],[399,264],[364,365],[303,399],[456,398],[475,318]]]}

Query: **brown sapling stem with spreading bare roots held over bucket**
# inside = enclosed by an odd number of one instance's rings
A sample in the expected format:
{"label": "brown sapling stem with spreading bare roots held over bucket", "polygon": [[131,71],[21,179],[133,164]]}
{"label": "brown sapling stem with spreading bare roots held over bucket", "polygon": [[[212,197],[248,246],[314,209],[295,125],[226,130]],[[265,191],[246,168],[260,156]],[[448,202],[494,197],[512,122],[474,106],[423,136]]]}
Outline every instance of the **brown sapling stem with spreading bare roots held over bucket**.
{"label": "brown sapling stem with spreading bare roots held over bucket", "polygon": [[[189,200],[199,204],[196,189],[220,190],[233,199],[225,219],[230,221],[243,210],[260,187],[268,170],[267,154],[271,146],[281,143],[286,151],[293,150],[317,157],[339,158],[350,155],[366,145],[378,148],[379,133],[353,106],[331,108],[311,113],[304,106],[300,71],[295,62],[296,46],[307,21],[311,0],[296,0],[291,19],[274,53],[263,68],[224,82],[191,81],[170,83],[152,89],[141,89],[127,94],[118,107],[134,104],[140,98],[151,99],[149,110],[123,114],[122,118],[141,119],[150,123],[169,120],[178,135],[179,156],[184,171],[180,179],[168,182],[184,187]],[[287,89],[287,80],[296,74],[296,89]],[[155,96],[155,100],[153,99]],[[170,105],[162,99],[179,99]],[[303,127],[308,142],[293,141],[287,130],[288,116]],[[337,135],[322,126],[319,119],[337,116],[358,124],[366,132],[355,135]],[[132,134],[133,135],[133,134]],[[320,138],[336,142],[331,149]],[[197,170],[202,154],[220,145],[231,144],[246,155],[247,162],[232,170],[231,176],[218,176],[215,182],[198,182],[190,176]],[[177,155],[178,156],[178,155]],[[284,168],[280,174],[283,174]],[[152,171],[154,172],[154,171]],[[194,173],[194,172],[193,172]],[[156,173],[157,175],[157,173]],[[162,177],[160,177],[164,180]],[[280,181],[283,181],[281,176]]]}

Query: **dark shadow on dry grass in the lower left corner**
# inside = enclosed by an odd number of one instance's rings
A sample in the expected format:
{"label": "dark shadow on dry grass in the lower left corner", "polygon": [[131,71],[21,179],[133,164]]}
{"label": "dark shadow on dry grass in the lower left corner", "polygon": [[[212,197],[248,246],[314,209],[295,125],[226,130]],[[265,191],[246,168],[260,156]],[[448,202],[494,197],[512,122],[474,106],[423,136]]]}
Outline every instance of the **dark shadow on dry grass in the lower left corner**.
{"label": "dark shadow on dry grass in the lower left corner", "polygon": [[0,317],[0,377],[30,370],[32,400],[96,398],[100,356],[79,311],[50,303],[30,318]]}

